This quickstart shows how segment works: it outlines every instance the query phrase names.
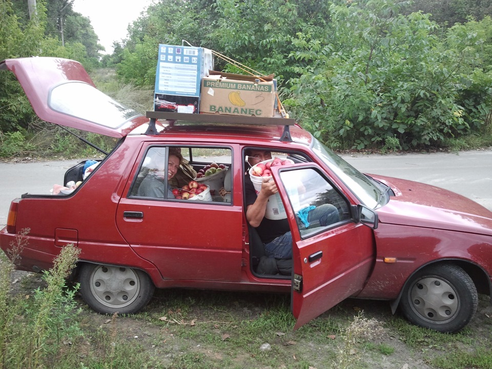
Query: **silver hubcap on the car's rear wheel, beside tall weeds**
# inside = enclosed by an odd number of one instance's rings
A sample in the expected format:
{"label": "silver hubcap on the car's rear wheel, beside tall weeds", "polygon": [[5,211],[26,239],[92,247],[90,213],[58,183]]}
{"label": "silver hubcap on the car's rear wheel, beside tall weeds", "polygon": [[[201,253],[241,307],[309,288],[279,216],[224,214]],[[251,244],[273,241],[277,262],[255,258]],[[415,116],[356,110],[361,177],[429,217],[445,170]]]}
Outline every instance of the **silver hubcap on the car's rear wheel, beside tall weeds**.
{"label": "silver hubcap on the car's rear wheel, beside tall weeds", "polygon": [[140,279],[131,268],[99,265],[90,280],[92,295],[110,308],[131,304],[140,292]]}

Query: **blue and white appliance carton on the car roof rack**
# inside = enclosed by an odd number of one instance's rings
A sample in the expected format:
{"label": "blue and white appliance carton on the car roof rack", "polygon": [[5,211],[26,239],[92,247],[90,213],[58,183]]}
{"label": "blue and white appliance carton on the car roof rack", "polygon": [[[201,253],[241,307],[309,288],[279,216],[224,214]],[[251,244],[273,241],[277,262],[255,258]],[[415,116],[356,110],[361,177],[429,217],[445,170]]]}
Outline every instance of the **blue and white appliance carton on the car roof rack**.
{"label": "blue and white appliance carton on the car roof rack", "polygon": [[198,113],[200,81],[213,66],[209,49],[159,45],[154,110]]}

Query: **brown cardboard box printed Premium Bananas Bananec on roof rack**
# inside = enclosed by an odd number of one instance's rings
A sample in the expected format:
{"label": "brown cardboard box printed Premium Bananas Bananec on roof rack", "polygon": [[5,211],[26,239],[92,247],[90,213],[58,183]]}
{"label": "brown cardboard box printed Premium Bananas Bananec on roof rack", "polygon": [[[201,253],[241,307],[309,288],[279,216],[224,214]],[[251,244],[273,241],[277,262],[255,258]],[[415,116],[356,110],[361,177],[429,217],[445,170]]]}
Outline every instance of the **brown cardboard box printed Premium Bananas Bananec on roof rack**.
{"label": "brown cardboard box printed Premium Bananas Bananec on roof rack", "polygon": [[216,71],[209,74],[201,79],[200,113],[274,116],[273,75],[258,77]]}

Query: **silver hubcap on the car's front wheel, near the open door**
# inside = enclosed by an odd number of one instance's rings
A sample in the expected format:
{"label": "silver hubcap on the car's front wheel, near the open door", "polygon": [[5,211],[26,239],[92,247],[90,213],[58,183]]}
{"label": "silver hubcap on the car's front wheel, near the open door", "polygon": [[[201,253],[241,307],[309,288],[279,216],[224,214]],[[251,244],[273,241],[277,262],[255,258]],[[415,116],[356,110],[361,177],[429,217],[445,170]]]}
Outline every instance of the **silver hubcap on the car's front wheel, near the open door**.
{"label": "silver hubcap on the car's front wheel, near the open door", "polygon": [[410,291],[412,309],[429,322],[445,323],[460,309],[458,294],[445,280],[426,277],[418,280]]}

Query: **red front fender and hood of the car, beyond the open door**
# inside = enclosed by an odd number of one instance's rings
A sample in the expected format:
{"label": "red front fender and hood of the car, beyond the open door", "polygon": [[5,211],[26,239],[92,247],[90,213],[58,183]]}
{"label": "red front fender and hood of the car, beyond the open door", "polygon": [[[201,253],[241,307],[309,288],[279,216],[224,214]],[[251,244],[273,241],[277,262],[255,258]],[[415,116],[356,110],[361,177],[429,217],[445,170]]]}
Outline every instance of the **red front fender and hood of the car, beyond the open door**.
{"label": "red front fender and hood of the car, beyond the open door", "polygon": [[[374,176],[395,196],[378,210],[376,266],[357,297],[394,299],[415,271],[443,259],[492,271],[490,211],[470,199],[423,183]],[[385,263],[384,258],[396,259]]]}

